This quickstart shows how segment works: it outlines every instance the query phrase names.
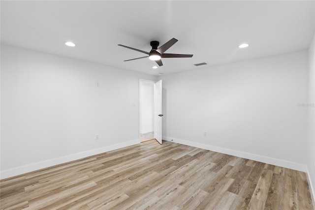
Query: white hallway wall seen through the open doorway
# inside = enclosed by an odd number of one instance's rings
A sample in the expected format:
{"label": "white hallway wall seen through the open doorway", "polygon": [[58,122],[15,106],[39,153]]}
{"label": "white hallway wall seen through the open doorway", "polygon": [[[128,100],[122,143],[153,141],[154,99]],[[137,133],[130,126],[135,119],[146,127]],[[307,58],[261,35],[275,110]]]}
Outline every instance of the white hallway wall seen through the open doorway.
{"label": "white hallway wall seen through the open doorway", "polygon": [[154,82],[140,81],[140,133],[154,131]]}

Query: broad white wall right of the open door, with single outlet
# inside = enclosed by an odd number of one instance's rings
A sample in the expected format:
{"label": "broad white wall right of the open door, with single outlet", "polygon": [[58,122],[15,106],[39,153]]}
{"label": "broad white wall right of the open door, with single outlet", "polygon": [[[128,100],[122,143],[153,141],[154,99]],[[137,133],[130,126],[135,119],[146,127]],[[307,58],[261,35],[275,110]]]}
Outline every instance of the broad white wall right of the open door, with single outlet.
{"label": "broad white wall right of the open door, with single outlet", "polygon": [[306,171],[307,76],[307,51],[160,76],[163,139]]}

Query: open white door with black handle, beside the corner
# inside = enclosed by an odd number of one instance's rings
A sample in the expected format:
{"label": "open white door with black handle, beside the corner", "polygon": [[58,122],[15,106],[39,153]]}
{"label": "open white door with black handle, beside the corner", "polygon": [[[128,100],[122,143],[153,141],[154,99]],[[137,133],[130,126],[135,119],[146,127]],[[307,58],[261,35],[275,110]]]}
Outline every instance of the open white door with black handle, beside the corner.
{"label": "open white door with black handle, beside the corner", "polygon": [[154,138],[162,144],[162,80],[154,84]]}

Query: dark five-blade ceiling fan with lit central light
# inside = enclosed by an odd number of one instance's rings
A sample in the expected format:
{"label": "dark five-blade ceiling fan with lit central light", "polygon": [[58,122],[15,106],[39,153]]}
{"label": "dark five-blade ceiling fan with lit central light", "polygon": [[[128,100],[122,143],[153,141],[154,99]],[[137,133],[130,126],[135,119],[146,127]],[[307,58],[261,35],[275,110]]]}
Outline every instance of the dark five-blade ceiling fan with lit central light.
{"label": "dark five-blade ceiling fan with lit central light", "polygon": [[148,56],[140,57],[140,58],[134,58],[126,61],[132,61],[132,60],[137,60],[137,59],[142,59],[142,58],[149,58],[150,60],[155,61],[158,66],[163,66],[163,63],[161,61],[161,58],[191,58],[192,55],[187,55],[187,54],[169,54],[169,53],[164,53],[168,48],[173,46],[178,40],[176,38],[172,38],[162,46],[158,48],[159,42],[158,41],[151,41],[150,45],[152,46],[152,50],[150,52],[146,52],[143,50],[138,50],[132,47],[128,47],[122,44],[118,44],[118,46],[126,47],[131,50],[135,50],[138,52],[142,52],[147,54]]}

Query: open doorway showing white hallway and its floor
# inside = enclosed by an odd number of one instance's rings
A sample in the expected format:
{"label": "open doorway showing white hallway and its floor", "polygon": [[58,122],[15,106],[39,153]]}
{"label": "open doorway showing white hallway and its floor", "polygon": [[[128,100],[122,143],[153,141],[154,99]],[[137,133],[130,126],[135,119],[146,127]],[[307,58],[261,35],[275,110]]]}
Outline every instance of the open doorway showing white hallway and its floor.
{"label": "open doorway showing white hallway and its floor", "polygon": [[154,84],[155,81],[139,79],[140,142],[154,138]]}

